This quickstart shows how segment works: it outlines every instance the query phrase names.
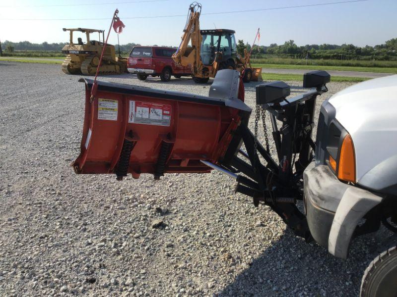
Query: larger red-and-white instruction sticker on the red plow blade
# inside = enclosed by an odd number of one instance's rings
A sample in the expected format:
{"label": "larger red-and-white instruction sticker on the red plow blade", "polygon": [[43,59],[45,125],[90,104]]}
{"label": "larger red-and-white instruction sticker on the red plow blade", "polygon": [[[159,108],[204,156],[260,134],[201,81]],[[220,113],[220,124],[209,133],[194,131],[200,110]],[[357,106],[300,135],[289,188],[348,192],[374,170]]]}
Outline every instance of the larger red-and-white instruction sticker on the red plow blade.
{"label": "larger red-and-white instruction sticker on the red plow blade", "polygon": [[171,105],[130,100],[129,123],[169,126]]}

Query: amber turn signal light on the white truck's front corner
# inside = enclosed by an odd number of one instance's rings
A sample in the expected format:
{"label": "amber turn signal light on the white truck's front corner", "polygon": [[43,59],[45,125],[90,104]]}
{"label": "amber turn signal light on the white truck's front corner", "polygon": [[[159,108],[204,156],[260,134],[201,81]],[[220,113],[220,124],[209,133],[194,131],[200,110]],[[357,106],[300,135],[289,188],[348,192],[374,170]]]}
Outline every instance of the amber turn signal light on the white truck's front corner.
{"label": "amber turn signal light on the white truck's front corner", "polygon": [[[330,160],[331,164],[331,160]],[[346,182],[356,182],[356,161],[353,141],[349,134],[345,136],[340,149],[338,179]],[[332,165],[331,165],[332,166]],[[335,162],[336,167],[336,162]]]}

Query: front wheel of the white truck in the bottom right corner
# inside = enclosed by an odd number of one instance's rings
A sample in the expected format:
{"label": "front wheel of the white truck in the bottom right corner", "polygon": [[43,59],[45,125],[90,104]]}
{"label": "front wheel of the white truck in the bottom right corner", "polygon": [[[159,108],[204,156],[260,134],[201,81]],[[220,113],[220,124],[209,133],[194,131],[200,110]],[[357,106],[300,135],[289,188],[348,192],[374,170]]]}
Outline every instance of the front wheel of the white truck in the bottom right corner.
{"label": "front wheel of the white truck in the bottom right corner", "polygon": [[365,269],[360,297],[397,297],[397,247],[378,255]]}

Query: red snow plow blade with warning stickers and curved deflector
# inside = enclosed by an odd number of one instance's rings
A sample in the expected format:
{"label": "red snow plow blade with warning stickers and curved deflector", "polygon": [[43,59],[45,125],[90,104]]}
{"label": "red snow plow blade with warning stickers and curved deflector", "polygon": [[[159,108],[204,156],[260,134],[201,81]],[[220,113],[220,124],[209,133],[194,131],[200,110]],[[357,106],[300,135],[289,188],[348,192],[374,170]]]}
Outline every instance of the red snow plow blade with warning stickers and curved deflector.
{"label": "red snow plow blade with warning stickers and curved deflector", "polygon": [[84,78],[85,115],[77,174],[128,173],[159,179],[164,173],[207,173],[201,160],[231,159],[241,146],[233,131],[247,126],[251,108],[244,102],[239,72],[217,73],[209,97],[98,82]]}

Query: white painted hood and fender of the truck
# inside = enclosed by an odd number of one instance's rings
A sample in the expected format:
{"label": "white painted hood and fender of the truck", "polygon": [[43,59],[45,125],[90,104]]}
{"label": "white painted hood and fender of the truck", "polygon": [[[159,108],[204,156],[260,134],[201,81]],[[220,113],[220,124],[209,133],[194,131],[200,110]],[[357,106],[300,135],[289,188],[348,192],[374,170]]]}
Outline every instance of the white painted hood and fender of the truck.
{"label": "white painted hood and fender of the truck", "polygon": [[397,154],[397,75],[351,86],[332,96],[329,103],[353,140],[360,184],[373,168]]}

